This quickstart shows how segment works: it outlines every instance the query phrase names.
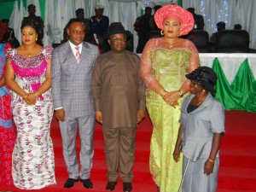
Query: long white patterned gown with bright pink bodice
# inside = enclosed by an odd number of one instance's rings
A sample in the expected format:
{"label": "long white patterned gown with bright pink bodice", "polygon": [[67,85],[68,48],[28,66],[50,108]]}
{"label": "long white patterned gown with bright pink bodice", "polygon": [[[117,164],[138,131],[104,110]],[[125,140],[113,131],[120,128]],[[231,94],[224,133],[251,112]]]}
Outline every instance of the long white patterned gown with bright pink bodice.
{"label": "long white patterned gown with bright pink bodice", "polygon": [[[26,58],[10,49],[7,59],[15,70],[15,82],[26,92],[38,90],[45,80],[52,48],[44,47],[38,55]],[[38,97],[35,105],[27,105],[11,91],[11,108],[17,127],[13,152],[12,176],[20,189],[42,189],[55,184],[55,161],[50,123],[53,116],[51,91]]]}

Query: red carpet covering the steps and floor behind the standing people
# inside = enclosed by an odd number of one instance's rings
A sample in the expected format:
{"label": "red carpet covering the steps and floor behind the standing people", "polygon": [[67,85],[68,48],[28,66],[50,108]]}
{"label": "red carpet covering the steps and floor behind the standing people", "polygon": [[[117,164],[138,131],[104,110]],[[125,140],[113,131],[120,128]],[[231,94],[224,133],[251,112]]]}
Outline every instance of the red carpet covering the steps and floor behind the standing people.
{"label": "red carpet covering the steps and floor behind the standing people", "polygon": [[[230,111],[226,113],[226,134],[223,137],[221,146],[221,166],[219,170],[217,192],[256,191],[255,119],[256,113],[246,113],[241,111]],[[147,117],[137,129],[136,163],[133,169],[133,192],[156,192],[156,187],[148,171],[151,132],[152,125]],[[101,125],[97,124],[95,131],[95,156],[90,177],[94,183],[93,189],[84,189],[83,184],[80,182],[75,183],[72,189],[63,189],[63,184],[67,180],[67,170],[62,155],[61,133],[55,118],[52,122],[51,137],[55,147],[55,177],[57,184],[39,190],[20,190],[16,189],[14,186],[0,186],[0,191],[105,192],[107,168],[103,149],[104,144]],[[122,191],[122,183],[120,180],[114,191]]]}

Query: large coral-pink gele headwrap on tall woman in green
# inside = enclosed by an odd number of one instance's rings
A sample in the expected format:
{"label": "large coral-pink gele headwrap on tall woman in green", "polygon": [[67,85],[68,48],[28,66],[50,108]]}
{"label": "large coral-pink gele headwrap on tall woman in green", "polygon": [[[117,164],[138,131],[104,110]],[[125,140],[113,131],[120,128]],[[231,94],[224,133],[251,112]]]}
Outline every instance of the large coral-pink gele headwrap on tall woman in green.
{"label": "large coral-pink gele headwrap on tall woman in green", "polygon": [[154,21],[160,29],[164,28],[164,22],[169,18],[179,20],[181,35],[188,34],[194,28],[195,20],[193,15],[177,4],[166,5],[158,9],[154,14]]}

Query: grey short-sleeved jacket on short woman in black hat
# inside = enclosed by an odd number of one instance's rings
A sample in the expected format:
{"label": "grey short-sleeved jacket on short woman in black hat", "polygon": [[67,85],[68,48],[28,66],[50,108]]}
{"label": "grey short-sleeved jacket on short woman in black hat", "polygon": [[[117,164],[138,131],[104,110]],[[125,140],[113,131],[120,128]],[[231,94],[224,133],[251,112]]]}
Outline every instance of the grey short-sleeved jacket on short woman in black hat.
{"label": "grey short-sleeved jacket on short woman in black hat", "polygon": [[[199,108],[187,112],[195,95],[187,96],[181,107],[180,123],[183,125],[183,154],[192,161],[209,157],[213,133],[224,132],[224,107],[210,93]],[[218,154],[217,154],[218,157]]]}

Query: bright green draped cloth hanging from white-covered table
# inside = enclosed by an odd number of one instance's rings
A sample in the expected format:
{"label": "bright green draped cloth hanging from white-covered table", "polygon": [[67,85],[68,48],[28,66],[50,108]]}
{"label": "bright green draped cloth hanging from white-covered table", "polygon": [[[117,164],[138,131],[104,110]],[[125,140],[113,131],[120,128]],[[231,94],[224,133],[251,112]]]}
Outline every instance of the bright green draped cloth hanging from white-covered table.
{"label": "bright green draped cloth hanging from white-covered table", "polygon": [[224,104],[224,108],[226,110],[233,109],[256,113],[256,81],[248,60],[246,59],[241,63],[241,67],[231,85],[224,75],[218,58],[213,61],[212,69],[218,75],[215,86],[217,90],[216,98]]}

